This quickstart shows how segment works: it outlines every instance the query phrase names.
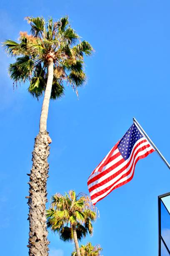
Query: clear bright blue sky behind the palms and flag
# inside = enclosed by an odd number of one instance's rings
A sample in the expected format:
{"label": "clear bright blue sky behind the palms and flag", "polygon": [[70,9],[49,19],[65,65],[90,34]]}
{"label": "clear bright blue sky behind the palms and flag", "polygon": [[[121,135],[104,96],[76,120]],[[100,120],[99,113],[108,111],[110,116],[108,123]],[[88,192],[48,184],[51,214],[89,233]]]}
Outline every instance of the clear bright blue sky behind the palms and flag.
{"label": "clear bright blue sky behind the palms and flag", "polygon": [[[88,82],[79,99],[67,88],[50,102],[48,199],[55,192],[87,190],[87,177],[124,135],[135,116],[170,161],[170,2],[168,0],[2,0],[0,41],[29,31],[25,16],[69,15],[72,27],[95,49],[87,58]],[[0,49],[0,240],[4,256],[28,255],[28,176],[41,103],[13,91],[11,59]],[[104,256],[158,255],[158,195],[170,191],[170,170],[156,153],[140,160],[131,182],[97,203],[94,235]],[[74,245],[49,232],[50,256]]]}

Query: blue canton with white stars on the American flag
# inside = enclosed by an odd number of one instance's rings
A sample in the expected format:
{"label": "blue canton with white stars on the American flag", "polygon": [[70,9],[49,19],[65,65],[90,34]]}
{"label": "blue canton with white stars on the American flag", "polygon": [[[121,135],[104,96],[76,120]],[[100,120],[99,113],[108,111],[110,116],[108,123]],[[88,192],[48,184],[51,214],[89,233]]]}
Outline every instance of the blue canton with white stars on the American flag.
{"label": "blue canton with white stars on the American flag", "polygon": [[127,133],[122,137],[121,141],[118,144],[118,150],[120,151],[120,154],[125,160],[129,158],[136,141],[138,141],[142,137],[143,135],[140,133],[135,124],[133,124],[129,128]]}

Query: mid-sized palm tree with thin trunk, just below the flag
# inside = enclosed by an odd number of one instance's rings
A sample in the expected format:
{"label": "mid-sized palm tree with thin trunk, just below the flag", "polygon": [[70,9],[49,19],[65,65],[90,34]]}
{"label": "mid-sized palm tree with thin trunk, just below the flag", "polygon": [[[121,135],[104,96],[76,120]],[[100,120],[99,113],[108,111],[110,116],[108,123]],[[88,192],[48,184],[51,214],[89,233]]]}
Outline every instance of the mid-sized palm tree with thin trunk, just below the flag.
{"label": "mid-sized palm tree with thin trunk, just below the flag", "polygon": [[78,240],[87,233],[92,235],[92,221],[96,216],[96,208],[90,198],[70,190],[64,196],[52,196],[50,209],[47,210],[47,227],[57,231],[63,241],[74,240],[77,256],[80,256]]}

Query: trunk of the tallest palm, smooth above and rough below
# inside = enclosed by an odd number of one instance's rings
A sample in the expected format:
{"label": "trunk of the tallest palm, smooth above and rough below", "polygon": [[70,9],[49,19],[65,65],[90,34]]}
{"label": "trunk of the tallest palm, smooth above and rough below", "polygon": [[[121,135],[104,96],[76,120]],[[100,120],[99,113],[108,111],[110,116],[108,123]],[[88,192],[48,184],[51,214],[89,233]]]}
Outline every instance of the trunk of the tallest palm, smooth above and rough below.
{"label": "trunk of the tallest palm, smooth above and rough below", "polygon": [[50,154],[49,136],[47,129],[47,115],[50,102],[50,95],[53,80],[53,59],[48,59],[48,78],[45,89],[44,100],[42,103],[40,117],[40,131],[35,138],[34,151],[32,152],[32,169],[29,184],[29,214],[30,222],[29,233],[29,255],[48,256],[46,209],[47,202],[47,177],[49,164],[47,157]]}

